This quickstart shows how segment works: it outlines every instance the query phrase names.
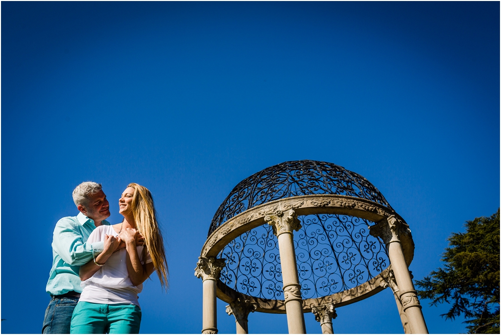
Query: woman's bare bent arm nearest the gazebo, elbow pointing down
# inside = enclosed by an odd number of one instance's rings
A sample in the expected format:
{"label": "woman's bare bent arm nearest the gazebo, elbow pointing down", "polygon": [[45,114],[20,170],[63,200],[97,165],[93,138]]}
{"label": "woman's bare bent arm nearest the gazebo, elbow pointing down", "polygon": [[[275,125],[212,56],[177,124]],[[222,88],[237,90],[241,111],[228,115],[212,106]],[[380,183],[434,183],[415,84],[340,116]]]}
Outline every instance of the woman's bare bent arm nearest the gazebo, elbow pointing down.
{"label": "woman's bare bent arm nearest the gazebo, elbow pointing down", "polygon": [[127,249],[127,272],[129,273],[132,284],[137,286],[148,279],[155,268],[153,267],[153,263],[141,264],[136,248],[137,231],[135,229],[126,228],[122,231],[121,235],[122,240],[125,241],[125,249]]}

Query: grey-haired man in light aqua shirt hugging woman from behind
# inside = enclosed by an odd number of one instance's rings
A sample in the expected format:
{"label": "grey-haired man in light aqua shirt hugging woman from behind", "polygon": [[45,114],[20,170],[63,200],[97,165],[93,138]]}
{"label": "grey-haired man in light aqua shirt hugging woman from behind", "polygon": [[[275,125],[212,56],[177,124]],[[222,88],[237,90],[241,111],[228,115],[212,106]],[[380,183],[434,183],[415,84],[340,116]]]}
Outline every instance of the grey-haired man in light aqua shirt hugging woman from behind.
{"label": "grey-haired man in light aqua shirt hugging woman from behind", "polygon": [[[86,242],[96,227],[110,224],[105,220],[110,216],[110,204],[101,184],[80,184],[73,191],[73,201],[80,213],[62,218],[54,229],[53,263],[47,282],[47,292],[52,299],[45,311],[44,334],[70,333],[73,309],[82,292],[78,275],[80,266],[95,260],[105,249],[104,242]],[[121,247],[115,237],[110,240],[112,248]],[[109,247],[107,245],[106,249]]]}

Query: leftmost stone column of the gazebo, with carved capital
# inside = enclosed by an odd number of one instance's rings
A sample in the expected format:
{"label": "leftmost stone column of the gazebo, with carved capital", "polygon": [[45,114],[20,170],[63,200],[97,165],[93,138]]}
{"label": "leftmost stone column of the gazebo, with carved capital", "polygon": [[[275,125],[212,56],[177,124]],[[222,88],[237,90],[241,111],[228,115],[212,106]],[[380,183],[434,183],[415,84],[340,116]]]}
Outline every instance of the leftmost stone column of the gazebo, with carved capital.
{"label": "leftmost stone column of the gazebo, with carved capital", "polygon": [[202,334],[217,334],[216,281],[224,267],[224,258],[198,257],[195,276],[202,278],[203,311]]}

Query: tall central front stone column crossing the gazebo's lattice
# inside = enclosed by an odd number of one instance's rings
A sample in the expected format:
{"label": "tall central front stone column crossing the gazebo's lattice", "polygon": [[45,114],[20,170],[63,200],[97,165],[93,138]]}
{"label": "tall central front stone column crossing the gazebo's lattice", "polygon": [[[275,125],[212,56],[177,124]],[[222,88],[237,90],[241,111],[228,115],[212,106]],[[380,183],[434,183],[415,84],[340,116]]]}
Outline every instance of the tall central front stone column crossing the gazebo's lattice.
{"label": "tall central front stone column crossing the gazebo's lattice", "polygon": [[287,214],[279,212],[267,215],[265,221],[273,227],[273,233],[279,241],[280,264],[284,279],[284,299],[287,312],[287,325],[290,334],[305,334],[305,316],[303,314],[303,299],[299,284],[296,252],[294,250],[293,231],[301,229],[294,210]]}

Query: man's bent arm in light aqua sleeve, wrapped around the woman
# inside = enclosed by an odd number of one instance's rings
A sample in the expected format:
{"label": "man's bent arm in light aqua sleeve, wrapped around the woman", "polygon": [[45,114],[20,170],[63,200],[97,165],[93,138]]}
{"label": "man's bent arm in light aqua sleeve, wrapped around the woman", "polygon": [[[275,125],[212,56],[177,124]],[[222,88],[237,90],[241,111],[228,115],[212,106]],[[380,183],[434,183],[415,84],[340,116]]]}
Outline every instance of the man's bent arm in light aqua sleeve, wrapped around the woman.
{"label": "man's bent arm in light aqua sleeve, wrapped around the woman", "polygon": [[71,266],[84,265],[99,255],[103,249],[103,242],[83,242],[82,235],[75,228],[75,223],[69,218],[58,221],[54,229],[52,247],[59,256]]}

